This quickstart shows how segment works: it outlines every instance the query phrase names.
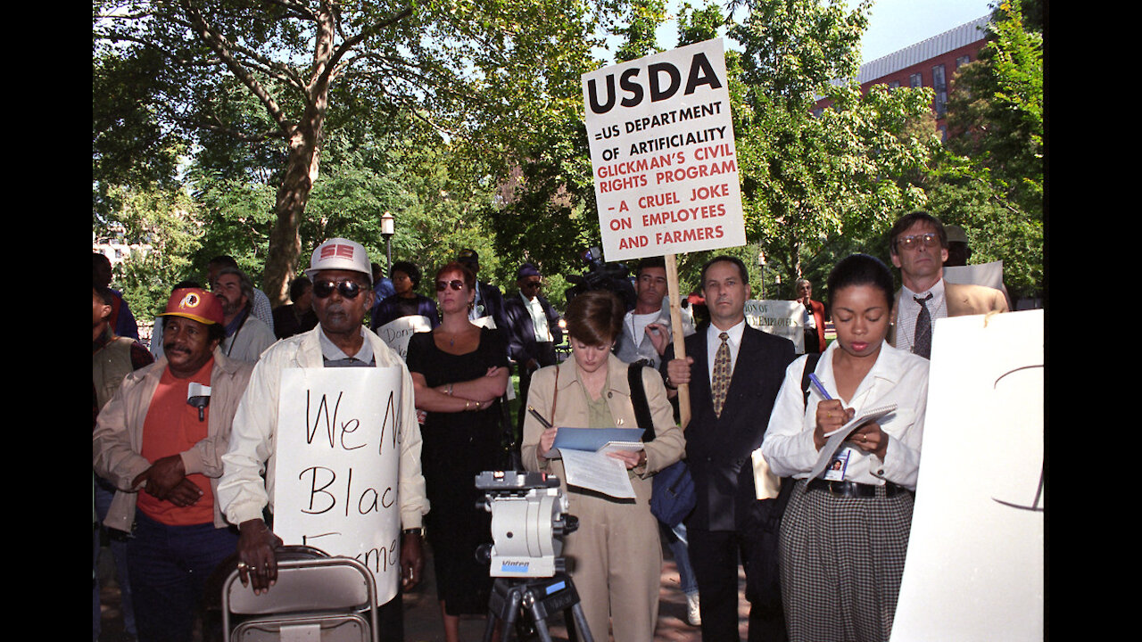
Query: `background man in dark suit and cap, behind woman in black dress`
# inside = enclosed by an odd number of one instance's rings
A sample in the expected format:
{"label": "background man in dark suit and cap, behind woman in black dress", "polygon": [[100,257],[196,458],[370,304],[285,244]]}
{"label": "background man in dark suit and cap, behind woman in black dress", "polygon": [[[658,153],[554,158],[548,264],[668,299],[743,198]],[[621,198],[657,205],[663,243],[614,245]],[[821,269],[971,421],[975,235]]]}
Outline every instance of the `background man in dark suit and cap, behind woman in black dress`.
{"label": "background man in dark suit and cap, behind woman in black dress", "polygon": [[523,402],[516,424],[522,434],[531,374],[545,366],[555,366],[555,346],[563,340],[563,330],[558,313],[539,295],[544,279],[534,265],[521,265],[515,283],[520,294],[504,302],[504,316],[507,320],[507,351],[520,368],[520,399]]}

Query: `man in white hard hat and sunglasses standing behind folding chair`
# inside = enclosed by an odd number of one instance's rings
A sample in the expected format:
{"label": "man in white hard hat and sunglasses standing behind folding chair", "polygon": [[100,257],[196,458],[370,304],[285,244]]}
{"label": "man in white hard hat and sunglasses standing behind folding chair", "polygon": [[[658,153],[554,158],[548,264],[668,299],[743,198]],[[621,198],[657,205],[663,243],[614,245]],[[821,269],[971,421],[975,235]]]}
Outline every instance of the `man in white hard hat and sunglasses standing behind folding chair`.
{"label": "man in white hard hat and sunglasses standing behind folding chair", "polygon": [[[402,537],[402,587],[420,581],[421,520],[428,512],[420,473],[420,430],[413,404],[412,378],[404,361],[385,342],[362,326],[372,307],[372,271],[364,247],[348,239],[330,239],[313,250],[306,276],[313,280],[313,310],[317,327],[278,342],[258,361],[250,386],[234,417],[230,450],[218,497],[226,519],[239,527],[239,573],[255,593],[271,589],[278,577],[274,547],[281,539],[263,521],[273,511],[274,434],[282,371],[287,368],[400,367],[397,409],[400,473],[397,497]],[[262,473],[265,472],[265,480]],[[380,607],[380,639],[403,639],[401,593]]]}

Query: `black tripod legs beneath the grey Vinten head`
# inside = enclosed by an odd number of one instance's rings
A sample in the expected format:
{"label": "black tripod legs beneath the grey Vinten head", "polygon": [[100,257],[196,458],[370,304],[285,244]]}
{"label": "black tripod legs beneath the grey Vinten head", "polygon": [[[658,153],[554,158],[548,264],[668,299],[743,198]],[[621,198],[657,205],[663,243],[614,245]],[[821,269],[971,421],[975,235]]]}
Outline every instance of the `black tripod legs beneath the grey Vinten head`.
{"label": "black tripod legs beneath the grey Vinten head", "polygon": [[[504,642],[510,642],[515,618],[521,608],[525,609],[544,642],[552,642],[547,618],[557,611],[563,611],[564,620],[568,620],[568,639],[571,642],[577,641],[577,632],[582,636],[582,642],[594,642],[590,629],[587,628],[587,618],[582,615],[582,605],[579,604],[579,593],[571,577],[564,572],[541,578],[496,578],[488,600],[489,617],[484,642],[491,642],[497,619],[504,623]],[[572,619],[573,626],[570,621]]]}

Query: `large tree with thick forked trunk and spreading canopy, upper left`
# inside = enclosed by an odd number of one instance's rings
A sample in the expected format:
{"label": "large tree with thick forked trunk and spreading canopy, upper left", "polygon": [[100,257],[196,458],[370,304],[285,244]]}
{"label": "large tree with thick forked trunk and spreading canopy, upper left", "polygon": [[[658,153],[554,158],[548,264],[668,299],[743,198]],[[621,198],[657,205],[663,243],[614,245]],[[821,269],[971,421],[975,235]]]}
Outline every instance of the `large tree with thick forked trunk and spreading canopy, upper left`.
{"label": "large tree with thick forked trunk and spreading canopy, upper left", "polygon": [[[273,142],[284,157],[264,273],[275,300],[299,263],[329,127],[403,111],[444,139],[489,123],[509,131],[523,125],[521,99],[573,67],[592,24],[574,0],[94,6],[96,59],[156,61],[139,106],[148,123],[186,139]],[[244,109],[251,97],[257,112]]]}

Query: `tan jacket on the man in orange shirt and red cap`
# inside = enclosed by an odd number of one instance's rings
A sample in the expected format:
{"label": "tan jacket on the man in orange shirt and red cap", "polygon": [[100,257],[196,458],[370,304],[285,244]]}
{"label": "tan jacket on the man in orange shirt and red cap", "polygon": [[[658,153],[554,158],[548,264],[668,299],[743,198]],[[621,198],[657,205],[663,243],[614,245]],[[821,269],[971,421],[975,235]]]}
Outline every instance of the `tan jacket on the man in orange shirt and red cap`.
{"label": "tan jacket on the man in orange shirt and red cap", "polygon": [[[234,411],[246,392],[254,364],[227,359],[217,348],[214,359],[207,438],[183,451],[182,457],[186,474],[201,473],[210,478],[210,489],[215,495],[214,523],[217,528],[225,528],[226,520],[223,519],[218,503],[222,456],[230,444]],[[138,489],[131,485],[131,481],[151,467],[151,463],[139,455],[143,449],[143,423],[166,369],[167,358],[163,356],[146,368],[127,375],[119,391],[99,411],[91,438],[95,472],[119,489],[111,501],[107,519],[103,521],[108,528],[130,532],[135,522]]]}

